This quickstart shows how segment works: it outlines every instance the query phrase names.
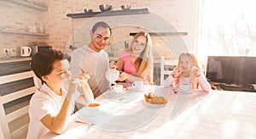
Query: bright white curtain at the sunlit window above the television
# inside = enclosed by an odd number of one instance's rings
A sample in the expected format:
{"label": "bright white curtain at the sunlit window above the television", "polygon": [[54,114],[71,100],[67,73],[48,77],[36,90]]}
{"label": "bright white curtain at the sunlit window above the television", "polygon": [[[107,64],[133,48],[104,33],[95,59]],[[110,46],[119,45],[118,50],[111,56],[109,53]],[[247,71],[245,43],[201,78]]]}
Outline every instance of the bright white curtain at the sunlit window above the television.
{"label": "bright white curtain at the sunlit window above the television", "polygon": [[254,0],[199,0],[199,55],[256,56]]}

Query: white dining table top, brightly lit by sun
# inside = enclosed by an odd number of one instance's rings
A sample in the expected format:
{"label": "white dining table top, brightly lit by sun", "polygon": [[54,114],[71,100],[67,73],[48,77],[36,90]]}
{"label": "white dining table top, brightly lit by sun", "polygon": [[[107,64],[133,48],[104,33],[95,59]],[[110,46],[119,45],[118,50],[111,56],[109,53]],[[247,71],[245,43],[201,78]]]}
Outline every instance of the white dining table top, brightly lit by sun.
{"label": "white dining table top, brightly lit by sun", "polygon": [[[168,103],[145,103],[144,93],[166,97]],[[86,108],[73,114],[67,131],[48,133],[45,138],[253,138],[256,136],[256,93],[195,91],[173,93],[163,86],[111,91],[97,97],[99,114],[88,119]],[[77,121],[86,122],[79,123]],[[93,124],[93,125],[90,125]]]}

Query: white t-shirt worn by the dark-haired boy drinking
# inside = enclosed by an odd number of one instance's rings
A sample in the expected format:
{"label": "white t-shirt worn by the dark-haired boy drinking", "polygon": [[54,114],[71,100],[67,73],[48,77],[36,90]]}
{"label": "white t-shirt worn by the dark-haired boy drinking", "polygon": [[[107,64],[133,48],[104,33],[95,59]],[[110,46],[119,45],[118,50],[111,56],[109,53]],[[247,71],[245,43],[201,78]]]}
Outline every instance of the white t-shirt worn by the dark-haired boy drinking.
{"label": "white t-shirt worn by the dark-haired boy drinking", "polygon": [[26,136],[27,139],[37,139],[49,132],[49,129],[40,120],[47,114],[59,114],[64,99],[65,93],[59,96],[45,84],[33,94],[29,103],[30,122]]}

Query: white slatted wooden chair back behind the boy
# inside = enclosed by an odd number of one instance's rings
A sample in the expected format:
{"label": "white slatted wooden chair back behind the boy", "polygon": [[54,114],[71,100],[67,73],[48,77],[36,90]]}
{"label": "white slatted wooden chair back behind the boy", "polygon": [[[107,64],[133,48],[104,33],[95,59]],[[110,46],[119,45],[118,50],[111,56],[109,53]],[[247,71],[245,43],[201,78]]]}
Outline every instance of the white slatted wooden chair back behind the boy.
{"label": "white slatted wooden chair back behind the boy", "polygon": [[26,138],[28,105],[38,88],[29,58],[0,61],[0,124],[5,138]]}

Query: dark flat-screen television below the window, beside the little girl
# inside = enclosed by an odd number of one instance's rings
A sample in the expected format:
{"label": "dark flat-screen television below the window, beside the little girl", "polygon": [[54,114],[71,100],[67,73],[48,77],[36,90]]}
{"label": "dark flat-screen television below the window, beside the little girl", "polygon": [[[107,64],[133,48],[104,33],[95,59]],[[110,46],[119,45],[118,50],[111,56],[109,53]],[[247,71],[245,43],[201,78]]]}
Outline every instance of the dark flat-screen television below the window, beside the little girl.
{"label": "dark flat-screen television below the window, beside the little girl", "polygon": [[238,86],[256,84],[256,57],[208,56],[207,79]]}

